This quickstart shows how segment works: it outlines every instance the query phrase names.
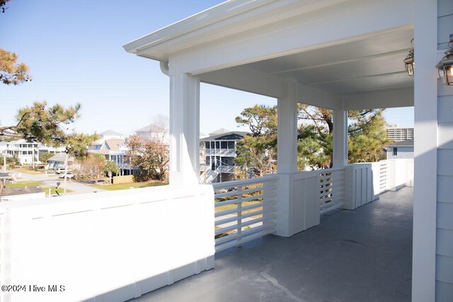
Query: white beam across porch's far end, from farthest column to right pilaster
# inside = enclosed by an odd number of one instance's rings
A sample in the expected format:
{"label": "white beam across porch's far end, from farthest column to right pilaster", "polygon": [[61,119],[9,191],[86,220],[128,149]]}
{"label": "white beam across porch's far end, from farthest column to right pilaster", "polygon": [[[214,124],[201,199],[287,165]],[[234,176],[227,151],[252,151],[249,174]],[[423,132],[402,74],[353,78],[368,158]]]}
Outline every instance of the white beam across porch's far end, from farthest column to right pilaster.
{"label": "white beam across porch's far end, from farthest column to right pilaster", "polygon": [[413,88],[343,95],[346,110],[398,108],[413,106]]}

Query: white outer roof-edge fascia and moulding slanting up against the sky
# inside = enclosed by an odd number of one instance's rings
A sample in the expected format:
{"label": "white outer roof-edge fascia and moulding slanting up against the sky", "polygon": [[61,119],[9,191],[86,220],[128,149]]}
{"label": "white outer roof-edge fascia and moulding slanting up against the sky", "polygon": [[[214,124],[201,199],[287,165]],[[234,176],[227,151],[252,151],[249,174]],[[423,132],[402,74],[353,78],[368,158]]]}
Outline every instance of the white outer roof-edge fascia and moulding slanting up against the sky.
{"label": "white outer roof-edge fascia and moulding slanting up against the sky", "polygon": [[226,1],[139,37],[123,47],[127,52],[142,57],[167,61],[173,52],[343,1],[348,0]]}

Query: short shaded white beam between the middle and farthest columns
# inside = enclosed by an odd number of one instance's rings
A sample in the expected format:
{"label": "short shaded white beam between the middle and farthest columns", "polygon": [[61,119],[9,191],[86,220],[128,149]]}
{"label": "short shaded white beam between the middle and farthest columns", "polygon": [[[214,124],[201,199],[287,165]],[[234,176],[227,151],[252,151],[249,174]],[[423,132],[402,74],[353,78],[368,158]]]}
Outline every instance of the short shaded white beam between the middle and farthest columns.
{"label": "short shaded white beam between the middle and farthest columns", "polygon": [[322,91],[321,89],[297,83],[297,103],[328,108],[341,109],[341,98],[338,95]]}

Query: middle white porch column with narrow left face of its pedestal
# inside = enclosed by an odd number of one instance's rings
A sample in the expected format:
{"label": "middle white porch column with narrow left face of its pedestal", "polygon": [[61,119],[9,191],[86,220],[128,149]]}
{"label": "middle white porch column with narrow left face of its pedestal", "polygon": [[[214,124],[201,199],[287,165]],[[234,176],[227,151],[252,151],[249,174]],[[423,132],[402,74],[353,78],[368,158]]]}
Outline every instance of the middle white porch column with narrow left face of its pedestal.
{"label": "middle white porch column with narrow left face of its pedestal", "polygon": [[289,237],[294,234],[291,182],[297,172],[297,84],[285,85],[285,96],[277,100],[277,235]]}

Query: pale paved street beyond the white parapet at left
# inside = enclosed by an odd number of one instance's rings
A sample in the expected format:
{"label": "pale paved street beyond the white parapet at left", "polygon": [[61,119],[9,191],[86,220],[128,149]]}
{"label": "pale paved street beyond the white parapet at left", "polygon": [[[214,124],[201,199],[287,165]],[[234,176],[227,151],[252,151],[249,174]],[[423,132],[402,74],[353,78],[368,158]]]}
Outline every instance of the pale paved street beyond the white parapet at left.
{"label": "pale paved street beyond the white parapet at left", "polygon": [[[57,187],[57,182],[60,182],[60,187],[64,187],[64,179],[63,178],[58,178],[58,175],[55,174],[50,174],[50,175],[45,175],[45,174],[28,174],[28,173],[23,173],[23,172],[16,172],[16,171],[11,171],[11,174],[16,173],[16,177],[21,178],[18,181],[21,180],[33,180],[36,182],[42,182],[45,185],[43,187]],[[20,175],[19,175],[20,174]],[[96,187],[91,187],[84,182],[77,182],[75,180],[68,180],[67,181],[67,190],[71,190],[73,192],[70,192],[68,194],[81,194],[81,193],[92,193],[92,192],[102,192],[106,191],[103,189],[98,189]]]}

